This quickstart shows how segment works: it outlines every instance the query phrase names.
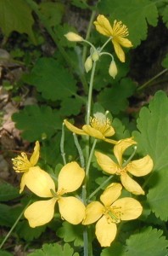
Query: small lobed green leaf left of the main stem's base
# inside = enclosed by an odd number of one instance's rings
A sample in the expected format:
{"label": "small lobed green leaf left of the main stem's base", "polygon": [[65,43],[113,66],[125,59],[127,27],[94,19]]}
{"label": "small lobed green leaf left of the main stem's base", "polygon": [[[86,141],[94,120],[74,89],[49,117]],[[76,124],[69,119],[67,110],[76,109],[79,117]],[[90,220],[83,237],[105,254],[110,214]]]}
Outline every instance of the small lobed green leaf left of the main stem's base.
{"label": "small lobed green leaf left of the main stem's base", "polygon": [[72,225],[68,222],[57,231],[57,236],[63,238],[65,242],[74,241],[76,247],[83,246],[83,227],[81,225]]}

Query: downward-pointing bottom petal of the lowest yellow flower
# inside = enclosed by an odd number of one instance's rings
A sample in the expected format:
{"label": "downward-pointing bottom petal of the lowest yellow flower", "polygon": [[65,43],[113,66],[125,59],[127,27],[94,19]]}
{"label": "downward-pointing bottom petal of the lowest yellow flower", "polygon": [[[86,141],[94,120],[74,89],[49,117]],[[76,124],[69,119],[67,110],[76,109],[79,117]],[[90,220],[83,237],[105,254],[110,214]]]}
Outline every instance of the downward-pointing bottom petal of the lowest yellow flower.
{"label": "downward-pointing bottom petal of the lowest yellow flower", "polygon": [[101,247],[109,247],[111,242],[114,241],[116,236],[116,224],[107,222],[105,216],[100,218],[96,224],[96,236]]}

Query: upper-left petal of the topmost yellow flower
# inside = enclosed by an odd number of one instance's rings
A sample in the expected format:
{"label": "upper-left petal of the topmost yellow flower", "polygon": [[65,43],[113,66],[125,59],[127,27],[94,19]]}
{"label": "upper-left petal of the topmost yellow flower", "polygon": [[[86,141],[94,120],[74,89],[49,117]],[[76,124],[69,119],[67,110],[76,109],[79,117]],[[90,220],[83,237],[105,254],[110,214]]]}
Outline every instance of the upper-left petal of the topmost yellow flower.
{"label": "upper-left petal of the topmost yellow flower", "polygon": [[94,21],[93,24],[96,26],[96,29],[100,34],[108,37],[112,36],[112,27],[109,20],[105,18],[104,15],[98,15],[97,20]]}

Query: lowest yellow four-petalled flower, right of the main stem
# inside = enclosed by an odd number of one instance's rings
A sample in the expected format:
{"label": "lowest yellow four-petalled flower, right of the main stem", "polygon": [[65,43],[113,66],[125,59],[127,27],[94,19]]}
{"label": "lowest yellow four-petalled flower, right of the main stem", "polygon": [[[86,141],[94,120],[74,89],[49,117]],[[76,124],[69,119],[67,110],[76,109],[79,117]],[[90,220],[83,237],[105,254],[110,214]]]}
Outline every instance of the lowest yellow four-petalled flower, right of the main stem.
{"label": "lowest yellow four-petalled flower, right of the main stem", "polygon": [[[130,197],[120,198],[122,186],[120,183],[112,183],[100,196],[99,201],[91,202],[86,208],[86,217],[82,224],[92,224],[96,221],[96,236],[102,247],[109,247],[114,241],[117,225],[120,220],[138,218],[143,207]],[[118,200],[117,200],[118,199]]]}

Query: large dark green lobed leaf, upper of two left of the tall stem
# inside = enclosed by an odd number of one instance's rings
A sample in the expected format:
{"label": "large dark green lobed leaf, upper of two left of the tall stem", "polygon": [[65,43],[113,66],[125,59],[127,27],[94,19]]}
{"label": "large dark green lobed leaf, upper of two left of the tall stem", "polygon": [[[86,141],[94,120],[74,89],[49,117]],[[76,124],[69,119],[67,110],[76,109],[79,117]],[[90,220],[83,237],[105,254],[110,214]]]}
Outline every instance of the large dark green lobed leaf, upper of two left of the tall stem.
{"label": "large dark green lobed leaf, upper of two left of the tall stem", "polygon": [[25,81],[36,86],[48,100],[63,100],[76,95],[76,80],[52,58],[38,59]]}

